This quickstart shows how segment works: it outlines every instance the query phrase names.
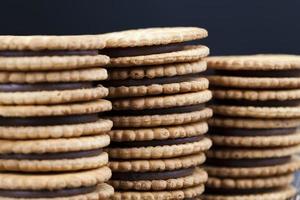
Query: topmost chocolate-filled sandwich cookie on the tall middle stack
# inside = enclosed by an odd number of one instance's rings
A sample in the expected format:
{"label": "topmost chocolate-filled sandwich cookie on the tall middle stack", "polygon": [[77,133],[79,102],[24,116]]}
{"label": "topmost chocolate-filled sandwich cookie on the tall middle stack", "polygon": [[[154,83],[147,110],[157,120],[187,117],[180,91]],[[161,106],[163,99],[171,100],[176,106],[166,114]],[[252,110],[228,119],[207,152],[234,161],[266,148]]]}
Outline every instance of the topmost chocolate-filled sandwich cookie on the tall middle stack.
{"label": "topmost chocolate-filled sandwich cookie on the tall middle stack", "polygon": [[183,42],[207,37],[196,27],[148,28],[103,34],[106,49],[100,54],[111,57],[111,67],[159,65],[197,61],[209,54],[205,46]]}

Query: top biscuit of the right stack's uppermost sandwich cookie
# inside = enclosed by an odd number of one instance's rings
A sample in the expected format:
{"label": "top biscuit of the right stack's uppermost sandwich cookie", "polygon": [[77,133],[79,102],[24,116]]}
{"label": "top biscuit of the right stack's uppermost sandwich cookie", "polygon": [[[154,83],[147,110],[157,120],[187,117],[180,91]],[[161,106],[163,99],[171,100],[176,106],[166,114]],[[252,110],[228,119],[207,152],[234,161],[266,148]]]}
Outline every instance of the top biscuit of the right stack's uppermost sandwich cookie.
{"label": "top biscuit of the right stack's uppermost sandwich cookie", "polygon": [[300,57],[296,55],[216,56],[206,60],[210,68],[222,70],[300,69]]}

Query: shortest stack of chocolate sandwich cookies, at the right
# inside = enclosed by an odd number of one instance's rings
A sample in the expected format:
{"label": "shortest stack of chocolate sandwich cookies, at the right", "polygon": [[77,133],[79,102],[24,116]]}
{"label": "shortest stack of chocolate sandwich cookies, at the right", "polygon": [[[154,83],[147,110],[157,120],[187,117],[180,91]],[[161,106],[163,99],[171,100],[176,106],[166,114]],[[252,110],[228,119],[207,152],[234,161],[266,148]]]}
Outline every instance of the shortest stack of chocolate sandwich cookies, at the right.
{"label": "shortest stack of chocolate sandwich cookies, at the right", "polygon": [[284,200],[300,167],[300,57],[207,59],[214,101],[208,200]]}

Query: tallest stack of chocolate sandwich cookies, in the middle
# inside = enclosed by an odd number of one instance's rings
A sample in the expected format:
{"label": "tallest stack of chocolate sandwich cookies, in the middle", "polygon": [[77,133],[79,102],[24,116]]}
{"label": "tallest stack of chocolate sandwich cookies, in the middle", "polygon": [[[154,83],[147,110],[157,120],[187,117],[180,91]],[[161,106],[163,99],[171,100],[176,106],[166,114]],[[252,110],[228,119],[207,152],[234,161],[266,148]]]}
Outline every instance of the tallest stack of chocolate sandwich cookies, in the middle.
{"label": "tallest stack of chocolate sandwich cookies, in the middle", "polygon": [[107,149],[113,199],[192,199],[204,190],[199,167],[211,141],[204,136],[212,111],[201,28],[150,28],[104,35],[111,57],[109,97],[114,122]]}

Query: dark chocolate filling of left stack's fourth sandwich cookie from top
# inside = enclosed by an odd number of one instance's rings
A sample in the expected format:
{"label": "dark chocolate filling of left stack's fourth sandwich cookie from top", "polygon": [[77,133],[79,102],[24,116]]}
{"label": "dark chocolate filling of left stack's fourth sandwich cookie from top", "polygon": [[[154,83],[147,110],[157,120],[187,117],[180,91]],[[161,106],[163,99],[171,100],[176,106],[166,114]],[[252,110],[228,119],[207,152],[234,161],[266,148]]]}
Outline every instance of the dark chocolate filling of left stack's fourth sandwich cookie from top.
{"label": "dark chocolate filling of left stack's fourth sandwich cookie from top", "polygon": [[102,149],[92,149],[72,152],[59,153],[29,153],[29,154],[0,154],[0,159],[3,160],[60,160],[60,159],[76,159],[98,156],[102,153]]}

